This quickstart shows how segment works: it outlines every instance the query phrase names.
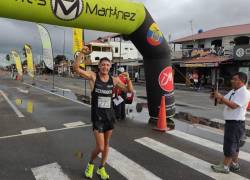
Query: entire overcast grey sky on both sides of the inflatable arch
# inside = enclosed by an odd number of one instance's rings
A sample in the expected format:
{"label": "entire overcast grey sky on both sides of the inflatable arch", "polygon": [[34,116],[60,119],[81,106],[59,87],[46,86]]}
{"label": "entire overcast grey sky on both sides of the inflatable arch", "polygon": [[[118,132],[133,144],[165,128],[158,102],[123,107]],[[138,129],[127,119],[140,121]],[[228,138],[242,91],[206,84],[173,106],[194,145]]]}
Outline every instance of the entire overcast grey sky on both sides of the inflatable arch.
{"label": "entire overcast grey sky on both sides of the inflatable arch", "polygon": [[[196,33],[237,24],[250,23],[250,0],[137,0],[143,2],[161,31],[172,40],[191,34],[190,21]],[[41,52],[41,41],[34,23],[0,18],[0,53],[11,48],[22,47],[25,42]],[[52,36],[54,54],[62,54],[64,30],[52,25],[46,26]],[[250,30],[249,30],[250,31]],[[66,52],[71,53],[72,33],[65,28]],[[85,39],[90,41],[109,33],[86,31]]]}

